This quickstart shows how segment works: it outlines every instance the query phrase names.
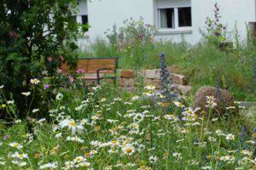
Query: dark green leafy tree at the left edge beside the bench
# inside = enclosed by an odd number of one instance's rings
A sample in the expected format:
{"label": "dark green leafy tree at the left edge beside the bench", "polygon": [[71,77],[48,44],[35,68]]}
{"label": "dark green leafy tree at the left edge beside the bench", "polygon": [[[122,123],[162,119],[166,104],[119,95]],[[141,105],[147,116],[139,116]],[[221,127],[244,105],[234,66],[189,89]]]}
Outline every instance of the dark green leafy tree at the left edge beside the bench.
{"label": "dark green leafy tree at the left edge beside the bench", "polygon": [[0,4],[0,84],[8,88],[8,99],[12,95],[20,101],[20,112],[25,111],[20,92],[30,90],[32,77],[41,78],[42,71],[52,77],[64,59],[75,59],[72,51],[77,46],[73,39],[79,26],[71,16],[77,3],[3,0]]}

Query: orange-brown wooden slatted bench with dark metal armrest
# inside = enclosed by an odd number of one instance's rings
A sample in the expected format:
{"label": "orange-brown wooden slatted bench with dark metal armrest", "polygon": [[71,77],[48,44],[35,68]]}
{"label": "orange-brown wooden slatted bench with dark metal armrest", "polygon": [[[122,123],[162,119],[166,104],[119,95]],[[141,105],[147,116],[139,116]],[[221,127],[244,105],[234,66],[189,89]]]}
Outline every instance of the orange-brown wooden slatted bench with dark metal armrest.
{"label": "orange-brown wooden slatted bench with dark metal armrest", "polygon": [[[102,79],[113,79],[116,84],[116,70],[118,66],[118,58],[86,58],[79,59],[76,71],[84,74],[83,80],[96,80],[97,84],[101,84]],[[63,72],[70,72],[69,66],[61,65]]]}

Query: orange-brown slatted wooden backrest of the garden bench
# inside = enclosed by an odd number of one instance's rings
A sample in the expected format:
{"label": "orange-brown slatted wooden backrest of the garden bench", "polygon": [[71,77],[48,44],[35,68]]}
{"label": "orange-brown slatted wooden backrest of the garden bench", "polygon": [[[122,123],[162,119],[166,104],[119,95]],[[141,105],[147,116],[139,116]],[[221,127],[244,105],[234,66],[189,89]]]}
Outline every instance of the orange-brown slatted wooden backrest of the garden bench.
{"label": "orange-brown slatted wooden backrest of the garden bench", "polygon": [[[113,74],[116,73],[118,66],[118,58],[88,58],[88,59],[78,59],[77,70],[81,69],[84,74],[86,73],[96,73],[97,69],[109,69],[106,71],[101,71],[101,73]],[[67,72],[69,67],[66,64],[61,65],[61,70]]]}

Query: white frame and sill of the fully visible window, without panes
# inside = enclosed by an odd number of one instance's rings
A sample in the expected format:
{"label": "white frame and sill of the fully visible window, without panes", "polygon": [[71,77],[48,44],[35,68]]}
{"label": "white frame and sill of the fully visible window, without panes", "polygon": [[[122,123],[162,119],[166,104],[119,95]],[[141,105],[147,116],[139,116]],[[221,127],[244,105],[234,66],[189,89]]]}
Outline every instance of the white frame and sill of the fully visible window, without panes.
{"label": "white frame and sill of the fully visible window, without panes", "polygon": [[[174,28],[161,28],[160,23],[160,9],[173,8],[174,10]],[[178,8],[191,8],[191,26],[178,26]],[[177,6],[161,6],[156,8],[156,26],[159,33],[191,33],[193,20],[192,20],[192,7],[191,5],[177,5]]]}

